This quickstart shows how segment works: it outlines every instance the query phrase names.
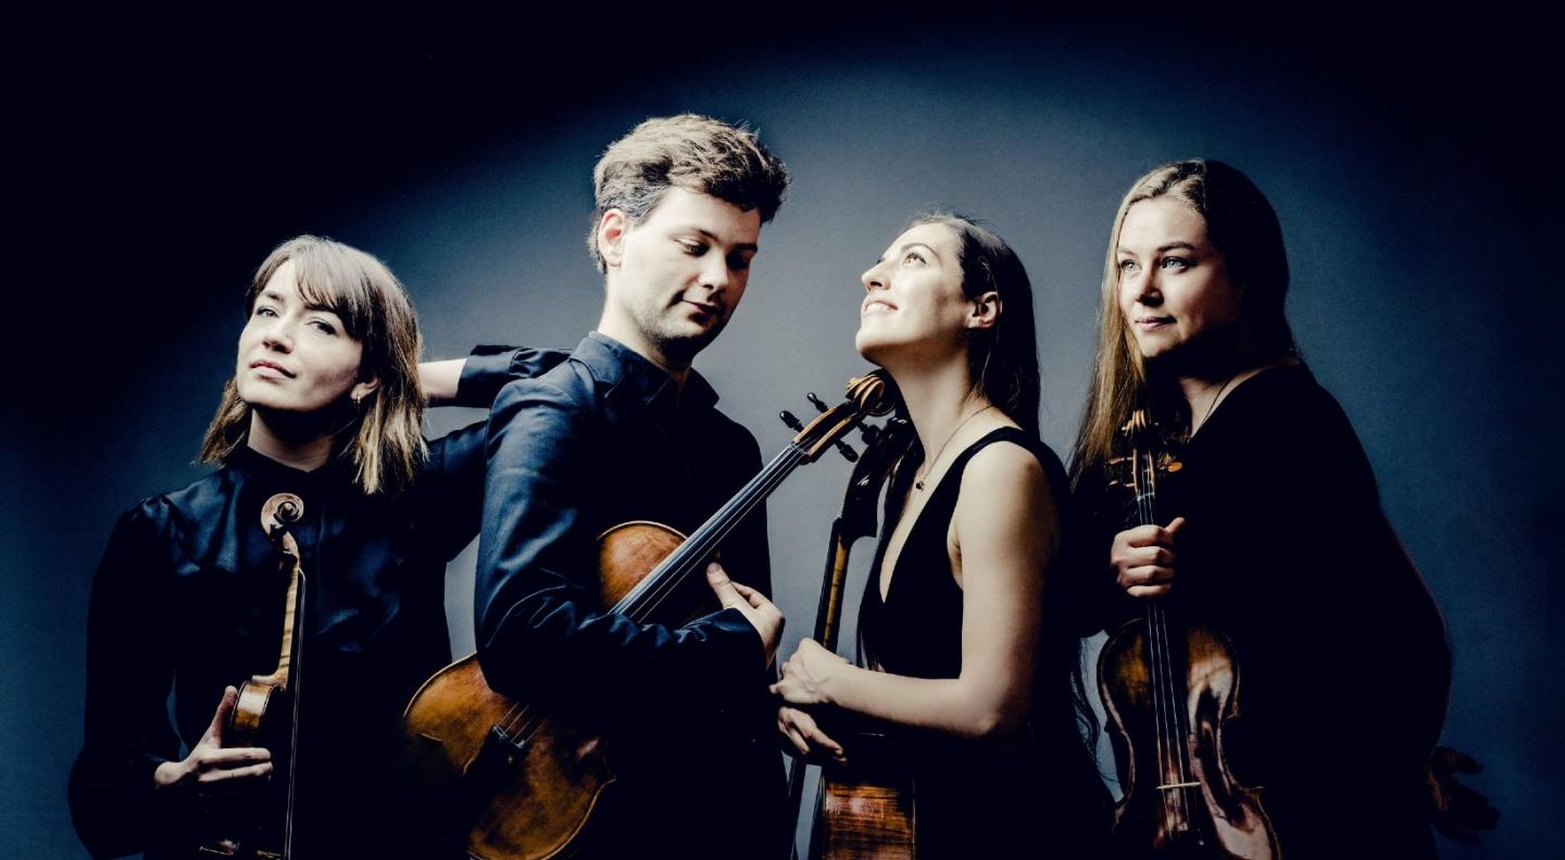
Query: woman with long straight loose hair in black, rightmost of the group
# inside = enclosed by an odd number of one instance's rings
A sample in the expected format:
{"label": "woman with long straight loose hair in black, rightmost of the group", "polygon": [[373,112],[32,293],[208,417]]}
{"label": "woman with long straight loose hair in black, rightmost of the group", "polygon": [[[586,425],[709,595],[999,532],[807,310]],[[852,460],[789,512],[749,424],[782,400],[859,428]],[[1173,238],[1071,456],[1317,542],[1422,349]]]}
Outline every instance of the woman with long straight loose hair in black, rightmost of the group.
{"label": "woman with long straight loose hair in black, rightmost of the group", "polygon": [[[1131,185],[1072,464],[1097,525],[1088,627],[1130,629],[1163,597],[1227,635],[1243,699],[1222,751],[1241,785],[1265,787],[1283,857],[1432,857],[1423,768],[1444,718],[1444,629],[1352,425],[1299,357],[1286,291],[1277,214],[1239,170],[1177,161]],[[1108,464],[1133,410],[1180,464],[1149,525]],[[1133,832],[1116,829],[1116,852],[1147,847],[1117,841]]]}

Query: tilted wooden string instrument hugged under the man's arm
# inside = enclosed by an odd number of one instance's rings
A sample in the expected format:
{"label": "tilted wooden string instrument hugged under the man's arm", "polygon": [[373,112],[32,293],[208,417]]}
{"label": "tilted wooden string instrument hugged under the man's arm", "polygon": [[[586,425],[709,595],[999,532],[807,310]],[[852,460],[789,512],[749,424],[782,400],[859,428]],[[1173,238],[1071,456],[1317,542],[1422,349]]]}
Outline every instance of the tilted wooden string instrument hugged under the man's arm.
{"label": "tilted wooden string instrument hugged under the man's arm", "polygon": [[[848,382],[848,399],[820,414],[689,538],[656,522],[617,525],[598,539],[599,597],[637,622],[682,624],[715,611],[679,585],[706,569],[725,536],[803,463],[865,414],[884,414],[878,374]],[[476,655],[441,669],[413,696],[404,727],[426,779],[460,797],[454,827],[479,860],[541,860],[568,854],[613,772],[598,729],[490,690]]]}

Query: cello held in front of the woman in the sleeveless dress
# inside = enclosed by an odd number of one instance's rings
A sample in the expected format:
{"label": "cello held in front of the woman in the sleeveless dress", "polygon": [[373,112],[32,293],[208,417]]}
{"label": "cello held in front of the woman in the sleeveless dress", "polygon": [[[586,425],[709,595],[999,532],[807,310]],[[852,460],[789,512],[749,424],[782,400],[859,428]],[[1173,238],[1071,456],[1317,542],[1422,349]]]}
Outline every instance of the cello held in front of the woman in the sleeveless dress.
{"label": "cello held in front of the woman in the sleeveless dress", "polygon": [[[865,435],[864,455],[848,478],[842,513],[831,522],[814,630],[815,641],[828,650],[837,649],[842,593],[853,544],[861,538],[875,536],[878,530],[875,505],[886,478],[906,452],[911,436],[912,427],[901,419],[892,419],[884,430]],[[834,761],[822,765],[809,857],[812,860],[912,857],[912,783],[903,769],[890,763],[889,755],[875,755],[875,751],[889,749],[884,735],[873,732],[840,735],[836,729],[833,733],[853,749],[853,765],[842,766]],[[803,758],[795,758],[789,769],[789,808],[795,816],[795,827],[789,829],[790,838],[803,812],[804,769]]]}

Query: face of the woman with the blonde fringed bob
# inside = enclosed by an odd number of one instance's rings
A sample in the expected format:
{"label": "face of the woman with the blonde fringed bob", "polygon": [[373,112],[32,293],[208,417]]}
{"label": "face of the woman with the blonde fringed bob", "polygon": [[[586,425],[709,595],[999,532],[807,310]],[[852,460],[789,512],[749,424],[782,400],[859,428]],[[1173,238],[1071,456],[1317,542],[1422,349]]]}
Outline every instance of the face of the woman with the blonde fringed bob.
{"label": "face of the woman with the blonde fringed bob", "polygon": [[255,297],[239,333],[235,385],[257,410],[321,413],[374,391],[376,380],[358,378],[362,355],[335,313],[304,300],[290,260]]}

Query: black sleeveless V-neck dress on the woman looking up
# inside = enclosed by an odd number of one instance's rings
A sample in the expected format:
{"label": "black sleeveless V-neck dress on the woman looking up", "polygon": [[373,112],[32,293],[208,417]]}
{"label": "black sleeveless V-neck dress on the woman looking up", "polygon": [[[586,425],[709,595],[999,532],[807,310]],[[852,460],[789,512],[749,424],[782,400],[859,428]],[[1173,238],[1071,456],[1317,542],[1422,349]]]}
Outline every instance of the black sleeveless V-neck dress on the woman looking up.
{"label": "black sleeveless V-neck dress on the woman looking up", "polygon": [[[962,450],[930,491],[881,600],[886,544],[922,460],[914,449],[886,496],[886,529],[859,608],[859,654],[865,665],[925,679],[961,674],[962,589],[952,575],[945,536],[967,463],[995,443],[1017,444],[1038,458],[1061,511],[1061,538],[1075,532],[1060,458],[1036,436],[1014,427],[997,428]],[[1069,558],[1064,547],[1060,558]],[[1052,575],[1063,577],[1064,568],[1056,560]],[[1053,585],[1031,716],[1019,746],[997,749],[934,732],[903,732],[914,771],[920,860],[1103,854],[1111,799],[1077,726],[1070,677],[1080,660],[1080,640],[1058,619]]]}

